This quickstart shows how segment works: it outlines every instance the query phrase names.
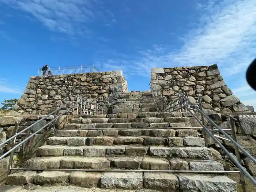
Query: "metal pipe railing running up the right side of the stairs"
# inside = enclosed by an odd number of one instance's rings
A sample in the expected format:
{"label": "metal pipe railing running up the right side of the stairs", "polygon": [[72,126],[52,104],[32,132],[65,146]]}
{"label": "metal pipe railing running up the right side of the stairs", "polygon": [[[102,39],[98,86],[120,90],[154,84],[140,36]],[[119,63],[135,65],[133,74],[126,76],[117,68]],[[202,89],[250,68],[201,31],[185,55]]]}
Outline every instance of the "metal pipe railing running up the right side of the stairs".
{"label": "metal pipe railing running up the right side of the stairs", "polygon": [[[151,90],[152,91],[152,90]],[[154,91],[153,91],[154,92]],[[243,192],[246,192],[246,182],[245,182],[245,176],[249,178],[249,180],[252,181],[252,183],[254,185],[256,185],[256,180],[247,172],[247,170],[245,169],[245,167],[242,166],[241,163],[241,158],[240,158],[240,151],[247,156],[253,163],[256,164],[256,159],[252,157],[251,154],[249,154],[240,144],[237,143],[237,139],[236,139],[236,127],[233,121],[232,116],[229,116],[229,121],[230,121],[230,126],[231,129],[222,129],[221,127],[219,127],[217,124],[214,123],[214,121],[211,120],[211,118],[209,118],[203,111],[202,108],[202,100],[201,100],[202,95],[198,94],[197,98],[198,98],[198,103],[192,103],[189,98],[188,95],[182,93],[181,91],[178,93],[178,96],[176,98],[176,102],[177,105],[171,105],[170,103],[174,102],[174,101],[170,101],[167,100],[166,101],[160,101],[159,98],[154,99],[156,102],[159,102],[158,106],[162,106],[163,103],[165,103],[165,106],[172,106],[172,112],[176,111],[176,112],[183,112],[183,108],[186,109],[186,111],[188,111],[195,119],[196,121],[202,125],[203,128],[203,135],[204,135],[204,142],[205,142],[205,146],[208,147],[208,141],[207,141],[207,134],[221,147],[221,149],[229,156],[229,158],[236,164],[236,166],[238,167],[238,169],[240,170],[240,183],[242,185],[242,190]],[[168,104],[168,102],[170,102]],[[180,106],[182,105],[182,106]],[[174,106],[174,107],[173,107]],[[175,107],[175,106],[179,106],[179,107]],[[162,110],[162,112],[166,112],[168,111],[168,108],[159,108],[159,110]],[[194,112],[192,112],[192,110],[196,110],[196,112],[198,112],[201,116],[201,120],[199,120],[199,118],[197,118],[196,114]],[[208,123],[210,123],[211,125],[211,129],[207,129],[206,125],[205,125],[205,121],[207,120]],[[215,128],[215,129],[214,129]],[[225,138],[218,136],[218,135],[214,135],[211,133],[211,131],[219,131],[220,133],[222,133],[222,135],[225,136]],[[232,136],[229,136],[225,131],[232,131]],[[231,155],[231,153],[219,142],[218,139],[222,139],[222,140],[226,140],[229,141],[231,143],[233,143],[234,145],[234,149],[235,149],[235,153],[236,153],[236,158],[233,157],[233,155]],[[240,150],[240,151],[239,151]]]}

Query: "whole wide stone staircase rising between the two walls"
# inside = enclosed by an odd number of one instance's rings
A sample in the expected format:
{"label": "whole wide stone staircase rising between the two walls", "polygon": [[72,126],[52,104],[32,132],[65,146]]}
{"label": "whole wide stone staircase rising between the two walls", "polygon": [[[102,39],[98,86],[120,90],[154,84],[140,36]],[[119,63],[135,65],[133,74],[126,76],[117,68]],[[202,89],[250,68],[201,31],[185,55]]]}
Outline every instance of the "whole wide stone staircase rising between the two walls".
{"label": "whole wide stone staircase rising between the two walls", "polygon": [[207,172],[224,168],[218,161],[221,157],[218,151],[204,147],[202,128],[193,128],[200,126],[187,112],[151,110],[155,110],[155,105],[150,93],[120,94],[114,114],[71,118],[63,130],[57,130],[45,146],[37,149],[37,157],[25,163],[29,169],[101,172],[24,171],[9,175],[7,184],[62,183],[87,188],[171,192],[237,191],[236,182],[223,174],[154,172]]}

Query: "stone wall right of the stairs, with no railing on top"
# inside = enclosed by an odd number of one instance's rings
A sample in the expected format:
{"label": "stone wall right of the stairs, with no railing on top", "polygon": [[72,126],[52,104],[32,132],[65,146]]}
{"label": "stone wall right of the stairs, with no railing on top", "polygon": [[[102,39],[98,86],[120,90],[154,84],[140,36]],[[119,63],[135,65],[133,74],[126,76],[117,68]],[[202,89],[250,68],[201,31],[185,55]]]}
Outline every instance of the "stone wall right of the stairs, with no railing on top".
{"label": "stone wall right of the stairs, with no railing on top", "polygon": [[[197,94],[203,96],[203,108],[216,112],[244,112],[248,108],[227,87],[216,64],[211,66],[152,68],[151,84],[162,95],[185,91],[195,103]],[[177,94],[176,94],[177,95]]]}

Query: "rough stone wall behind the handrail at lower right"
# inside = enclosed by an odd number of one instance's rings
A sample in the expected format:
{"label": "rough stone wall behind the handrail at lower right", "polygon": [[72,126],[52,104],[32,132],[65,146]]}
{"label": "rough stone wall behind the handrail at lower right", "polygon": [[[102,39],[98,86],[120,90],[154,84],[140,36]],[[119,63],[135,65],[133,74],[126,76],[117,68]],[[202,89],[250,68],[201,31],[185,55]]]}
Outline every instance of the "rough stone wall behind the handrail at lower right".
{"label": "rough stone wall behind the handrail at lower right", "polygon": [[[209,117],[215,121],[221,127],[222,129],[230,129],[230,123],[229,123],[229,115],[233,117],[233,120],[236,124],[236,137],[237,137],[237,143],[239,143],[246,151],[248,151],[249,154],[251,154],[254,158],[256,158],[256,115],[250,115],[250,114],[237,114],[237,113],[231,113],[231,114],[220,114],[220,113],[212,113],[209,115]],[[231,136],[231,131],[226,131],[228,135]],[[215,135],[219,135],[223,138],[225,138],[224,135],[221,133],[215,132]],[[222,143],[222,145],[229,150],[231,154],[233,154],[234,158],[236,158],[234,145],[231,142],[228,142],[226,140],[218,139],[219,142]],[[234,162],[229,158],[229,156],[226,155],[226,153],[219,147],[218,144],[215,144],[213,139],[210,139],[208,136],[208,147],[213,147],[219,153],[222,155],[222,159],[225,160],[224,162],[224,168],[225,170],[238,170]],[[240,151],[240,157],[242,159],[242,166],[244,166],[248,172],[256,177],[256,165],[248,158],[246,157],[241,151]],[[220,159],[220,160],[222,160]]]}

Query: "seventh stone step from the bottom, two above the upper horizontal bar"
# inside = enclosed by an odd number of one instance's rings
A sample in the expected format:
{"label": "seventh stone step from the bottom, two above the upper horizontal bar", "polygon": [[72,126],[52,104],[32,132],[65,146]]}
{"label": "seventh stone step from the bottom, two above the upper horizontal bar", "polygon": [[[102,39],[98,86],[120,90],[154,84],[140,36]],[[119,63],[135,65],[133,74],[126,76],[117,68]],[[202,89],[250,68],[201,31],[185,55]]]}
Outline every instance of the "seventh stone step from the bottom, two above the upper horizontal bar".
{"label": "seventh stone step from the bottom, two above the upper horizontal bar", "polygon": [[71,118],[69,123],[184,123],[190,119],[189,117]]}

